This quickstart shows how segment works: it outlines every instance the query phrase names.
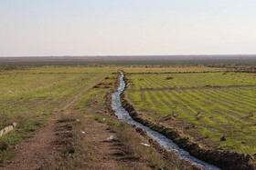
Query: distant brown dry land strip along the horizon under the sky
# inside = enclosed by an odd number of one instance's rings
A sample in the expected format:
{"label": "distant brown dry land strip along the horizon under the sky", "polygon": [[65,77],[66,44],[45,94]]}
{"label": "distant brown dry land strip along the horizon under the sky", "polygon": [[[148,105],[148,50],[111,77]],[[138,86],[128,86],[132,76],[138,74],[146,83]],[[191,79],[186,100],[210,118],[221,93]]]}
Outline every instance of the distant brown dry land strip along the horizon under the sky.
{"label": "distant brown dry land strip along the horizon under the sky", "polygon": [[112,55],[0,57],[0,65],[162,65],[162,64],[256,64],[256,55]]}

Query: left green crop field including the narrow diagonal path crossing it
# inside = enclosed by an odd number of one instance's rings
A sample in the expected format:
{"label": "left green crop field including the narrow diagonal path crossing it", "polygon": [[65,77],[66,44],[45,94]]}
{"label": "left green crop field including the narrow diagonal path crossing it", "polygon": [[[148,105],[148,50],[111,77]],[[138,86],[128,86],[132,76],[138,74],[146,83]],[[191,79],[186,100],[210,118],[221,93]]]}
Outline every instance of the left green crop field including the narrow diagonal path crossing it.
{"label": "left green crop field including the narrow diagonal path crossing it", "polygon": [[[64,112],[69,106],[79,109],[80,100],[91,95],[106,95],[104,89],[114,84],[112,72],[115,68],[79,66],[0,72],[0,129],[16,122],[18,133],[8,136],[11,143],[29,137],[26,132],[34,131],[48,115]],[[100,82],[101,88],[92,88]],[[87,95],[85,89],[91,89]]]}

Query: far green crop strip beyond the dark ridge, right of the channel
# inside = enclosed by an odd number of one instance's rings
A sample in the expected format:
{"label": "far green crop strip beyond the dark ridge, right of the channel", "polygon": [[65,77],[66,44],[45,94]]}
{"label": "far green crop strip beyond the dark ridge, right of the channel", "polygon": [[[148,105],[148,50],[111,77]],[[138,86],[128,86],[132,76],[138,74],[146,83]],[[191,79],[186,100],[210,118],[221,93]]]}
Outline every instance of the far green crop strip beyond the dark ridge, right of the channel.
{"label": "far green crop strip beyond the dark ridge, right of the channel", "polygon": [[198,73],[128,75],[131,89],[173,88],[219,85],[256,85],[256,75],[249,73]]}

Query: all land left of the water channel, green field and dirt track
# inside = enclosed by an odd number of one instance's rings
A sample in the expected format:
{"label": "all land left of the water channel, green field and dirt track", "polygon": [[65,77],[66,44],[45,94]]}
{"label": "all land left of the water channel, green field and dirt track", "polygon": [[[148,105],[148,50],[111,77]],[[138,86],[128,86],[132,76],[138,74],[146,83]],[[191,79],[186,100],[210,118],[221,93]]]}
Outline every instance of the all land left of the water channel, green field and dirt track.
{"label": "all land left of the water channel, green field and dirt track", "polygon": [[[0,129],[17,123],[0,137],[0,169],[192,167],[154,145],[138,145],[149,139],[113,115],[111,94],[120,67],[0,68]],[[118,140],[104,142],[110,136]]]}

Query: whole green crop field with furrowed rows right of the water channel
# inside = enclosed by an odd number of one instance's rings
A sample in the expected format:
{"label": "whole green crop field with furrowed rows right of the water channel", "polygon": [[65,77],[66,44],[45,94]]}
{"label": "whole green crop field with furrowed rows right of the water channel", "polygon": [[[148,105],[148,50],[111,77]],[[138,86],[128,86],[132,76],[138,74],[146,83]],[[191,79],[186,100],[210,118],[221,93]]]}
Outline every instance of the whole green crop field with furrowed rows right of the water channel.
{"label": "whole green crop field with furrowed rows right of the water channel", "polygon": [[[139,115],[175,128],[199,145],[256,154],[255,73],[209,67],[197,68],[200,73],[187,73],[193,67],[158,69],[124,68],[125,96]],[[220,140],[223,136],[226,141]]]}

